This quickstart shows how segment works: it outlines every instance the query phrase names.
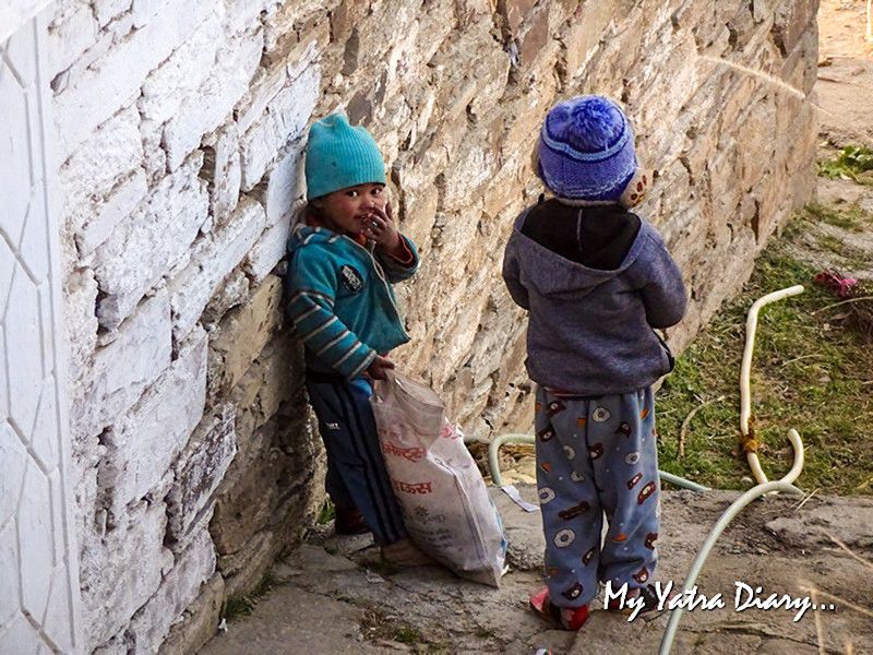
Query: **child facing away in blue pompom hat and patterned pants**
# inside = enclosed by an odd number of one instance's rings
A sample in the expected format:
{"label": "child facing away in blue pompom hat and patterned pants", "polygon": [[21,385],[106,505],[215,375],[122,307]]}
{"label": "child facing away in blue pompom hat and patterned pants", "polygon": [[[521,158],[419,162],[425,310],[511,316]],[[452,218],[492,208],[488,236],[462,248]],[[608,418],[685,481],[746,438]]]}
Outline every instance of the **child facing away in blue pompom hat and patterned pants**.
{"label": "child facing away in blue pompom hat and patterned pants", "polygon": [[[503,261],[528,314],[537,486],[547,587],[534,609],[578,630],[598,583],[644,611],[657,553],[660,485],[651,384],[673,359],[655,329],[685,311],[682,275],[655,228],[629,211],[647,176],[619,106],[578,96],[549,111],[538,175],[554,198],[516,219]],[[608,532],[601,545],[602,515]],[[610,604],[609,609],[621,609]]]}

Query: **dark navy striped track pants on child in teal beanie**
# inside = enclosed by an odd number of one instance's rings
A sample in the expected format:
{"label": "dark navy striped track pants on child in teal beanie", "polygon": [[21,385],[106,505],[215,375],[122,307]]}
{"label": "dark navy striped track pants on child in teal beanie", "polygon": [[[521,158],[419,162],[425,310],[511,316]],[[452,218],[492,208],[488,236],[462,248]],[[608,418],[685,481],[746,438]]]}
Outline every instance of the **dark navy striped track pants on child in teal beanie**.
{"label": "dark navy striped track pants on child in teal beanie", "polygon": [[370,408],[370,383],[362,378],[348,382],[339,377],[307,376],[307,390],[324,440],[324,486],[333,503],[360,510],[378,544],[406,537]]}

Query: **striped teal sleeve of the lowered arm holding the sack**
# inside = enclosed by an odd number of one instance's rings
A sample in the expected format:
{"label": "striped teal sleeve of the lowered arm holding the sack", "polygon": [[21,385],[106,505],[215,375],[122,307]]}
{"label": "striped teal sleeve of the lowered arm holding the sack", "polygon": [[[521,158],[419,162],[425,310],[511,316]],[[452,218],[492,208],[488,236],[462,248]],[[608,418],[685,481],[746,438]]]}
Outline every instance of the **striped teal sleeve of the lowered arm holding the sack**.
{"label": "striped teal sleeve of the lowered arm holding the sack", "polygon": [[310,353],[354,380],[367,370],[376,353],[334,313],[336,273],[318,251],[313,254],[298,251],[288,267],[288,318]]}

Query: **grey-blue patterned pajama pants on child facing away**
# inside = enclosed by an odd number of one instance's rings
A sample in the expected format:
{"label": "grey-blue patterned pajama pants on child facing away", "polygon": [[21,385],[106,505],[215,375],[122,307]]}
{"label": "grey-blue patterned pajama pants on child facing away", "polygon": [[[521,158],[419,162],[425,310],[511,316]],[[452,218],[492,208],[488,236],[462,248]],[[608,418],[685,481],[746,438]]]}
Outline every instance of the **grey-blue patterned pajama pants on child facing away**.
{"label": "grey-blue patterned pajama pants on child facing away", "polygon": [[657,562],[660,515],[651,389],[567,398],[538,386],[536,431],[552,603],[586,605],[598,582],[645,586]]}

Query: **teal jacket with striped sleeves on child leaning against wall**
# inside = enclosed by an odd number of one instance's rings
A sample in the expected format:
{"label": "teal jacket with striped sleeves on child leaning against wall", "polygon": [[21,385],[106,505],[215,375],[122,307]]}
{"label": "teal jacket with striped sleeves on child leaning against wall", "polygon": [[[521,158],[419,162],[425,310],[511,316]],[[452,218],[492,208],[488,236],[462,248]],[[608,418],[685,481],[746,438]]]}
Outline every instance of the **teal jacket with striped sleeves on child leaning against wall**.
{"label": "teal jacket with striped sleeves on child leaning against wall", "polygon": [[310,368],[354,380],[376,354],[409,341],[391,288],[418,267],[415,246],[403,238],[409,265],[324,227],[298,225],[291,233],[287,312]]}

